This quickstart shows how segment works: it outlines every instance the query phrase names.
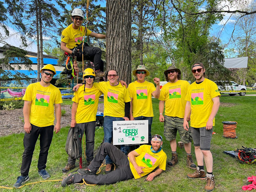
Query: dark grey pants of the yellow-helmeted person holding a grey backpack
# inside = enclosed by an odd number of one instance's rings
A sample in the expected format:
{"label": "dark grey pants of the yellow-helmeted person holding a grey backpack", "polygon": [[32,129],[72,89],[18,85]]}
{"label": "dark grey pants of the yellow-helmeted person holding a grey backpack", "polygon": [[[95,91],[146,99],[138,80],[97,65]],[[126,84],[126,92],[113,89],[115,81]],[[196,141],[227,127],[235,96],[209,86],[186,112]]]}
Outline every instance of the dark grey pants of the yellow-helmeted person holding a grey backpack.
{"label": "dark grey pants of the yellow-helmeted person holding a grey backpack", "polygon": [[[87,162],[90,162],[93,160],[95,123],[96,121],[76,124],[81,130],[80,134],[82,137],[83,137],[83,134],[85,133],[85,143],[86,143],[85,155],[86,155]],[[76,162],[75,159],[72,159],[70,157],[68,158],[69,164],[73,165],[75,164],[75,162]]]}

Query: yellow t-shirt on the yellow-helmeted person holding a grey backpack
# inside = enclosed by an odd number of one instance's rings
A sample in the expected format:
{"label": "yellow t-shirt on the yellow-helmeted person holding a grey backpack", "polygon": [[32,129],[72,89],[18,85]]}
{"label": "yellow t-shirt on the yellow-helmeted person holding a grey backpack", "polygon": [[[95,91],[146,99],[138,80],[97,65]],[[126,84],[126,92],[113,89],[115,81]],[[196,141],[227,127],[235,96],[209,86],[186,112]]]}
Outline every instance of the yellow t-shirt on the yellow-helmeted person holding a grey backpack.
{"label": "yellow t-shirt on the yellow-helmeted person holding a grey backpack", "polygon": [[79,87],[72,99],[73,102],[78,103],[76,123],[87,123],[96,120],[99,96],[102,94],[94,86],[92,88],[85,88],[84,91],[84,86]]}

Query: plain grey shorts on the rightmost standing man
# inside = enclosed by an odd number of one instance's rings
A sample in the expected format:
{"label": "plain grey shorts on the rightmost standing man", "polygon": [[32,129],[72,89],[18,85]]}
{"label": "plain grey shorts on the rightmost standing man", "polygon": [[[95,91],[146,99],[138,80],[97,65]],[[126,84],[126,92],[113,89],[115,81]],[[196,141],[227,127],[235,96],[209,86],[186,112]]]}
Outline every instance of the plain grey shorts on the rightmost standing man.
{"label": "plain grey shorts on the rightmost standing man", "polygon": [[207,130],[204,126],[200,128],[190,127],[190,129],[194,146],[200,146],[201,150],[210,150],[213,128]]}

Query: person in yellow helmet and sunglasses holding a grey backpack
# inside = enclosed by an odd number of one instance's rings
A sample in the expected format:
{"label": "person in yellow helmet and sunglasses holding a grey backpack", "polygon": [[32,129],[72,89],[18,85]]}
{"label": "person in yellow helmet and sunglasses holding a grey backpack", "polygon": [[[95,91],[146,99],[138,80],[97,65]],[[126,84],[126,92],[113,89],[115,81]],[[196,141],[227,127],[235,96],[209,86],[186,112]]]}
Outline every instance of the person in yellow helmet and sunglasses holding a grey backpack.
{"label": "person in yellow helmet and sunglasses holding a grey backpack", "polygon": [[[78,88],[72,99],[71,127],[77,125],[81,130],[81,136],[85,133],[86,142],[86,160],[89,165],[93,160],[94,136],[96,113],[98,108],[99,96],[102,92],[93,86],[95,73],[93,69],[84,70],[83,78],[85,84]],[[68,172],[75,168],[75,159],[68,158],[68,163],[62,173]]]}

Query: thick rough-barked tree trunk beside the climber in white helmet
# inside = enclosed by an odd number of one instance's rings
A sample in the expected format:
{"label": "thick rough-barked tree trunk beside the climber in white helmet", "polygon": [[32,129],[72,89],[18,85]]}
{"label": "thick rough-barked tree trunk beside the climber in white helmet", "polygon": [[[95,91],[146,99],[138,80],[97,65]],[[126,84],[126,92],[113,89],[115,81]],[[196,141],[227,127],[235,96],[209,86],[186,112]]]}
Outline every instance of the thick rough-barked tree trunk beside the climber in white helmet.
{"label": "thick rough-barked tree trunk beside the climber in white helmet", "polygon": [[131,82],[131,0],[107,0],[106,62],[119,79]]}

